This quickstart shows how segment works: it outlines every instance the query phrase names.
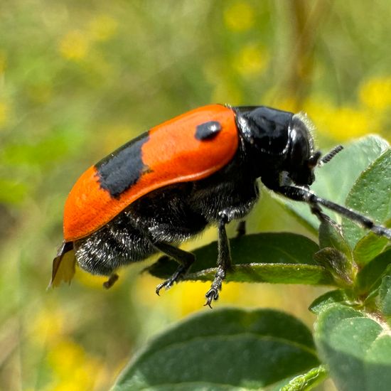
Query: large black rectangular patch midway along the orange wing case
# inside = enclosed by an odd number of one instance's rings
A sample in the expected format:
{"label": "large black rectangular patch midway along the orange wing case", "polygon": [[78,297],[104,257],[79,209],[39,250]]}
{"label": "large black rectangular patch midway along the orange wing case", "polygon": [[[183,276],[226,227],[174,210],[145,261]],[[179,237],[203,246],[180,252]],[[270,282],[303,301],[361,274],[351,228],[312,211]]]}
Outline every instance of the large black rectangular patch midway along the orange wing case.
{"label": "large black rectangular patch midway along the orange wing case", "polygon": [[100,187],[119,198],[149,170],[142,161],[141,147],[149,140],[148,132],[141,134],[95,164]]}

